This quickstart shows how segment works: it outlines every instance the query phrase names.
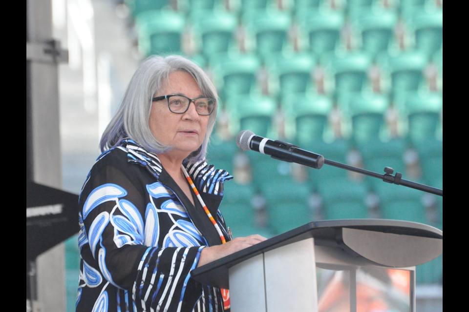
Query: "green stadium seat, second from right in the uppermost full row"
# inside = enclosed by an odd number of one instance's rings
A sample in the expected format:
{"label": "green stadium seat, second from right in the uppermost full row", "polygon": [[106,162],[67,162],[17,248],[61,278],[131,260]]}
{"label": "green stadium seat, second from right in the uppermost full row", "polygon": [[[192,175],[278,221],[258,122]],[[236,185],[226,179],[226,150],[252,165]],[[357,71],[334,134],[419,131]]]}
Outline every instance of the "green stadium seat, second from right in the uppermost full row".
{"label": "green stadium seat, second from right in the uppermost full row", "polygon": [[363,11],[356,22],[362,34],[362,49],[373,58],[387,51],[397,22],[398,16],[392,10]]}

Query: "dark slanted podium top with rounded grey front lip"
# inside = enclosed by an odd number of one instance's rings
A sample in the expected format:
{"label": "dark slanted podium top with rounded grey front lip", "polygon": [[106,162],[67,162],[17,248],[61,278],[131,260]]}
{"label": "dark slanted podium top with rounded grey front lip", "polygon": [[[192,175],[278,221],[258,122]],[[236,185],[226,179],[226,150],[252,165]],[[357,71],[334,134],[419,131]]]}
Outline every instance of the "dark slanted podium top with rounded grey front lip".
{"label": "dark slanted podium top with rounded grey front lip", "polygon": [[227,288],[231,267],[307,238],[314,238],[316,246],[336,248],[362,263],[388,268],[413,267],[443,253],[443,232],[425,224],[383,219],[326,220],[311,222],[211,262],[193,270],[191,276],[204,285]]}

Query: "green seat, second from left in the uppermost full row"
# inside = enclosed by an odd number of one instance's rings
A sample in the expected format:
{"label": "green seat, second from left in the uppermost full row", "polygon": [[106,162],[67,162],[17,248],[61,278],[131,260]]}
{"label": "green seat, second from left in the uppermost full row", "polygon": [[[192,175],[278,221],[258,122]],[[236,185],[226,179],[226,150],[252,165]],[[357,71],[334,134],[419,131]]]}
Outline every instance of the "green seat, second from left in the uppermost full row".
{"label": "green seat, second from left in the uppermost full row", "polygon": [[234,14],[224,11],[196,11],[191,20],[200,36],[200,51],[210,58],[214,54],[235,49],[234,33],[238,26]]}

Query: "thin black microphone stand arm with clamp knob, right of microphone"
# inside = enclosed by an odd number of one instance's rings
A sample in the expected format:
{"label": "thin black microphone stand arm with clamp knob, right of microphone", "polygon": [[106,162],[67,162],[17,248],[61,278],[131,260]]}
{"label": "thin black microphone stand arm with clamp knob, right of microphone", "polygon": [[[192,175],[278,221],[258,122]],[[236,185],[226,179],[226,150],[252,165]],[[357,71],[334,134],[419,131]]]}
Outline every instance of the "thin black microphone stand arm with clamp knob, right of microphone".
{"label": "thin black microphone stand arm with clamp knob, right of microphone", "polygon": [[345,170],[349,170],[349,171],[353,171],[353,172],[356,172],[356,173],[359,173],[359,174],[362,174],[362,175],[365,175],[365,176],[376,177],[376,178],[379,178],[379,179],[383,180],[386,183],[396,184],[396,185],[403,185],[403,186],[406,186],[406,187],[409,187],[409,188],[412,188],[412,189],[424,191],[426,193],[439,195],[439,196],[443,197],[443,190],[440,190],[440,189],[437,189],[437,188],[434,188],[434,187],[431,187],[431,186],[427,186],[427,185],[424,185],[424,184],[420,184],[420,183],[405,180],[405,179],[402,178],[402,174],[399,173],[399,172],[396,173],[393,176],[392,174],[394,173],[394,169],[392,169],[390,167],[384,168],[385,174],[380,175],[380,174],[372,172],[372,171],[356,168],[356,167],[349,166],[349,165],[344,165],[344,164],[341,164],[340,162],[336,162],[336,161],[332,161],[332,160],[328,160],[328,159],[324,159],[324,164],[329,165],[329,166],[334,166],[334,167],[337,167],[337,168],[341,168],[341,169],[345,169]]}

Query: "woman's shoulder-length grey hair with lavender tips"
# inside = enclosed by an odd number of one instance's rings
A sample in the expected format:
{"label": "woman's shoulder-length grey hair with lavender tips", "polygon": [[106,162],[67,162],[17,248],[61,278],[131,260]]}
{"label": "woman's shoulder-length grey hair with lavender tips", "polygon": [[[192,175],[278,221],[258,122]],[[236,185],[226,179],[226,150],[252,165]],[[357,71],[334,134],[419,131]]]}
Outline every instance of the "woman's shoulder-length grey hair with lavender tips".
{"label": "woman's shoulder-length grey hair with lavender tips", "polygon": [[[130,80],[119,109],[101,137],[102,152],[116,147],[125,138],[134,140],[147,151],[155,154],[164,154],[171,150],[171,146],[161,144],[152,135],[149,128],[149,116],[153,95],[168,83],[170,74],[177,71],[191,74],[206,97],[218,100],[213,82],[192,61],[175,55],[151,57],[139,66]],[[187,161],[196,162],[205,159],[217,109],[218,103],[215,104],[213,113],[209,117],[202,145],[188,156]]]}

